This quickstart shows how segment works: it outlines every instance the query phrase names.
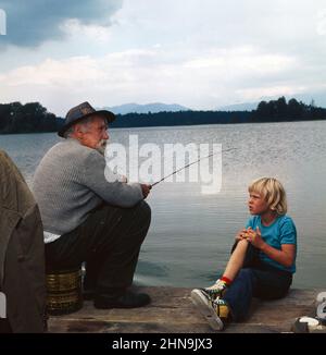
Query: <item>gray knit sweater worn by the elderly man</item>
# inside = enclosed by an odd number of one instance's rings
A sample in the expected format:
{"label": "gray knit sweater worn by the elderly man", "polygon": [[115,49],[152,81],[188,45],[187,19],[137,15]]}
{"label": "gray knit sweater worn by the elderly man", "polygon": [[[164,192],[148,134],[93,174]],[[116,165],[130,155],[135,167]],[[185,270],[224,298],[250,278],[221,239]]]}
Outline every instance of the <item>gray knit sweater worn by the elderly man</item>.
{"label": "gray knit sweater worn by the elderly man", "polygon": [[74,230],[102,201],[133,207],[143,198],[140,184],[108,182],[104,170],[104,157],[73,138],[46,154],[33,181],[46,232],[61,235]]}

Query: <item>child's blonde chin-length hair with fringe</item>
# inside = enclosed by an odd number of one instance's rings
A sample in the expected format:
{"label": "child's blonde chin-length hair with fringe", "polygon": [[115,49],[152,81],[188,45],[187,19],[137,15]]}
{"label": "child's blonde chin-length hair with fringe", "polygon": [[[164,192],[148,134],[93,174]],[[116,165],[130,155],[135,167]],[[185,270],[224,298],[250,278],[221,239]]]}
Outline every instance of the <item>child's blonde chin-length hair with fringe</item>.
{"label": "child's blonde chin-length hair with fringe", "polygon": [[288,209],[287,196],[278,180],[274,178],[258,179],[250,184],[248,191],[262,195],[269,208],[277,215],[286,215]]}

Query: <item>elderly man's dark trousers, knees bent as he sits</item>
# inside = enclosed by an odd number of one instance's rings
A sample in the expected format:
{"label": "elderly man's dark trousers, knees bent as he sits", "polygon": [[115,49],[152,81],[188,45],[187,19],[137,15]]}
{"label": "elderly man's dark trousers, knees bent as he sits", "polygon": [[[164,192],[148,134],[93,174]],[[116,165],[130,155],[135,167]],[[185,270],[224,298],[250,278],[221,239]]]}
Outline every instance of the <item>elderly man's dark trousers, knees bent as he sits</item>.
{"label": "elderly man's dark trousers, knees bent as he sits", "polygon": [[46,244],[47,267],[73,268],[86,261],[84,287],[118,296],[133,283],[150,220],[146,201],[133,208],[101,205],[74,231]]}

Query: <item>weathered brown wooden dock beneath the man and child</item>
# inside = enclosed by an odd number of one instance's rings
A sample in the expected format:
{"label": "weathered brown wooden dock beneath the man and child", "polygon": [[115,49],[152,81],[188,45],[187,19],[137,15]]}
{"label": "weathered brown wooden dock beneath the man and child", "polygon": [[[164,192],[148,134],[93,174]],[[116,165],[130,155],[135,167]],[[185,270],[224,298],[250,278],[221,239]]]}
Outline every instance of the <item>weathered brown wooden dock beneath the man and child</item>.
{"label": "weathered brown wooden dock beneath the man and child", "polygon": [[[77,313],[50,317],[49,332],[97,333],[213,333],[190,299],[191,289],[138,287],[152,303],[134,309],[96,309],[84,302]],[[318,290],[290,290],[279,301],[253,301],[244,322],[230,323],[226,333],[291,332],[297,317],[315,315]]]}

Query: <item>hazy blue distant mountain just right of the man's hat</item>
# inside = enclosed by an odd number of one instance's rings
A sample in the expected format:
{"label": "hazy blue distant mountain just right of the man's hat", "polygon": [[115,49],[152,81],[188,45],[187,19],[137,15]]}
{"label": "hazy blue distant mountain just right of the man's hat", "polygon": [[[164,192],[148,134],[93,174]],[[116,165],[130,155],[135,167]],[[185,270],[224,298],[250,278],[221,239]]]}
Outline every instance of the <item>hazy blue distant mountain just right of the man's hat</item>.
{"label": "hazy blue distant mountain just right of the man's hat", "polygon": [[158,112],[178,112],[178,111],[190,111],[190,109],[177,105],[166,105],[161,102],[138,105],[138,103],[125,103],[121,106],[104,107],[103,110],[112,111],[115,114],[127,114],[127,113],[158,113]]}

